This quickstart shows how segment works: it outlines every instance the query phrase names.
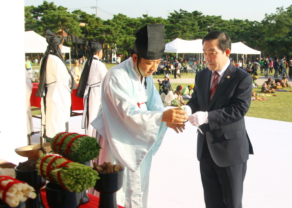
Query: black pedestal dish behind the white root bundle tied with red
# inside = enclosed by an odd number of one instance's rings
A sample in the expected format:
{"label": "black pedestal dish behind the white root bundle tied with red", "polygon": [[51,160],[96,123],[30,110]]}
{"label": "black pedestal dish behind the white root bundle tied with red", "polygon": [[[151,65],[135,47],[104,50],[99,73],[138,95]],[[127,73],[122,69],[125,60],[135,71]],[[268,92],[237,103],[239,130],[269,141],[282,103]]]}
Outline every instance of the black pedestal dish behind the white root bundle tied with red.
{"label": "black pedestal dish behind the white root bundle tied with red", "polygon": [[41,188],[46,184],[46,180],[37,174],[37,170],[19,170],[14,168],[15,178],[32,186],[35,190],[35,199],[27,199],[27,208],[46,208],[41,196]]}

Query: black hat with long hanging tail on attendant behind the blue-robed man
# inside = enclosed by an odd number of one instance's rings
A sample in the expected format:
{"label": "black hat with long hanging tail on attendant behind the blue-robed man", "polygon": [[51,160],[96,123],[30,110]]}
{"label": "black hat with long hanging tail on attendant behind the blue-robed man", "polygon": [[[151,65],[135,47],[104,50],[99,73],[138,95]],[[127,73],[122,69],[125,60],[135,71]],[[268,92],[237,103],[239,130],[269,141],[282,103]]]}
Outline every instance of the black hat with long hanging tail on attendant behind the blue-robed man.
{"label": "black hat with long hanging tail on attendant behind the blue-robed man", "polygon": [[100,51],[103,48],[103,46],[93,40],[89,40],[88,44],[87,44],[87,49],[90,52],[90,55],[88,57],[88,60],[85,63],[85,66],[83,68],[81,77],[80,77],[80,81],[79,81],[79,86],[78,86],[78,90],[76,92],[76,96],[83,98],[84,96],[84,92],[87,86],[87,81],[88,81],[88,76],[89,76],[89,71],[91,68],[91,64],[92,64],[92,60],[96,59],[93,57],[94,54],[96,54],[98,51]]}

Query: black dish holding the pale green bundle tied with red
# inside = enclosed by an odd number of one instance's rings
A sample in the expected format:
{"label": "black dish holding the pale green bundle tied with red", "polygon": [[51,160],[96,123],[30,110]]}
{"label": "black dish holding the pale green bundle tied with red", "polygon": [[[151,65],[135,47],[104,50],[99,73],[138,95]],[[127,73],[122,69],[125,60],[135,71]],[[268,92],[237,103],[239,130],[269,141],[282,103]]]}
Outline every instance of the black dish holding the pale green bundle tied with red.
{"label": "black dish holding the pale green bundle tied with red", "polygon": [[46,193],[49,208],[79,208],[82,203],[83,192],[70,192],[52,182],[46,185]]}

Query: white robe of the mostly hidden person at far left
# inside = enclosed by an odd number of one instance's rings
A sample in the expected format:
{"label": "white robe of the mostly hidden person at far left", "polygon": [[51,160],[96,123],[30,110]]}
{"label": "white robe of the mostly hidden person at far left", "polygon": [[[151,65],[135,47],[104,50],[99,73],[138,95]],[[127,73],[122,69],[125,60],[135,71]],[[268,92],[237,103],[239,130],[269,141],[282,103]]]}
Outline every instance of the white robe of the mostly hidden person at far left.
{"label": "white robe of the mostly hidden person at far left", "polygon": [[33,132],[33,123],[32,123],[32,114],[31,114],[31,105],[30,105],[30,95],[32,92],[32,84],[29,74],[26,70],[26,94],[27,94],[27,134]]}

